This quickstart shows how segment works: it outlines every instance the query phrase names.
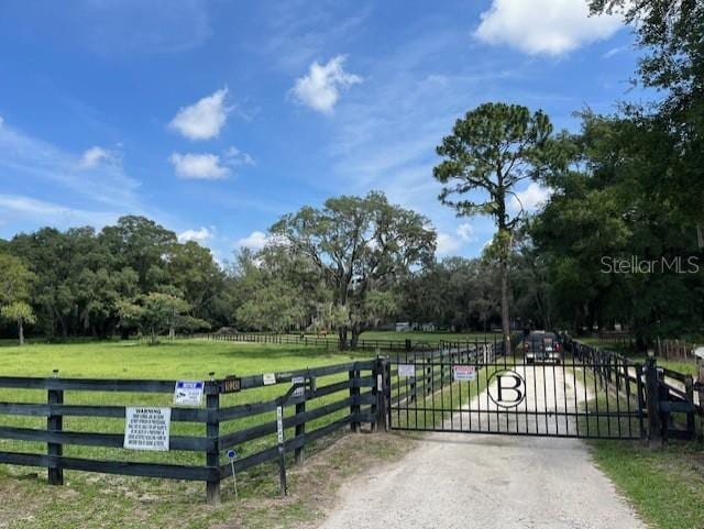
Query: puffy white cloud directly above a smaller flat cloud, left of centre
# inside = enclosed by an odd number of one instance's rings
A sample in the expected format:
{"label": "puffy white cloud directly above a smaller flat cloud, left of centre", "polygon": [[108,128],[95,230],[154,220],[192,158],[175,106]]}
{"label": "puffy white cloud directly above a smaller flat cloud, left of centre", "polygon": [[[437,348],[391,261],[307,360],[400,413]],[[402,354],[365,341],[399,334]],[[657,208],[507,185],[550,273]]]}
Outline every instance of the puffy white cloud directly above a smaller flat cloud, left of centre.
{"label": "puffy white cloud directly above a smaller flat cloud, left of centre", "polygon": [[226,107],[228,89],[221,88],[190,107],[182,107],[168,126],[189,140],[217,137],[232,108]]}

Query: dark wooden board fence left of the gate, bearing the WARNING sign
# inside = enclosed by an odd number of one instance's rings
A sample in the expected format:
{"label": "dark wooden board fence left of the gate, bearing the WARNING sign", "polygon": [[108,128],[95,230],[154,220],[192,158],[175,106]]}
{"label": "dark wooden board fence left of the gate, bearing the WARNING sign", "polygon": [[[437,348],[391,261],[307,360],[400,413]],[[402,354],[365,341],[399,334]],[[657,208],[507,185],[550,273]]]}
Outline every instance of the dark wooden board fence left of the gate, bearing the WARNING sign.
{"label": "dark wooden board fence left of the gate, bearing the WARNING sign", "polygon": [[[64,429],[65,417],[112,418],[124,419],[125,406],[109,405],[69,405],[65,404],[67,394],[86,392],[135,394],[144,400],[151,400],[150,394],[173,395],[176,381],[144,379],[88,379],[88,378],[50,378],[0,377],[0,388],[15,390],[46,392],[46,404],[3,401],[0,403],[0,416],[45,417],[46,428],[24,428],[14,426],[0,427],[0,441],[34,441],[46,443],[43,453],[0,451],[0,463],[13,465],[41,466],[48,470],[48,482],[63,484],[65,470],[98,472],[132,476],[163,477],[174,480],[200,481],[207,484],[208,502],[219,499],[220,482],[232,474],[232,466],[223,459],[223,452],[230,448],[246,447],[258,440],[256,451],[237,459],[235,472],[279,456],[279,444],[272,438],[277,432],[277,421],[272,419],[272,411],[283,407],[284,429],[295,429],[295,436],[285,439],[280,447],[285,452],[293,452],[296,459],[302,459],[305,447],[311,441],[331,433],[340,428],[349,427],[359,430],[360,425],[373,427],[385,418],[383,392],[377,382],[385,379],[384,361],[370,360],[330,365],[310,370],[276,373],[275,383],[282,388],[282,395],[268,400],[241,401],[232,406],[222,406],[221,396],[238,392],[238,400],[244,400],[242,393],[262,388],[264,375],[243,376],[241,378],[210,379],[205,383],[205,408],[172,408],[173,422],[191,422],[201,425],[201,436],[170,436],[168,462],[141,462],[99,460],[64,455],[66,445],[102,447],[123,450],[129,456],[134,451],[124,450],[124,432],[106,433],[97,431],[69,431]],[[333,376],[337,375],[337,376]],[[377,378],[377,375],[380,377]],[[305,384],[297,384],[301,394],[292,392],[292,381],[300,378]],[[318,378],[331,377],[334,382],[317,384]],[[267,385],[271,379],[267,381]],[[6,392],[7,393],[7,392]],[[331,401],[336,394],[343,394],[339,400]],[[72,399],[73,400],[73,399]],[[143,403],[145,407],[153,404]],[[134,406],[130,404],[130,406]],[[136,406],[140,406],[139,404]],[[260,420],[244,428],[231,426],[245,418],[256,417]],[[87,421],[88,422],[88,421]],[[310,430],[314,423],[316,429]],[[94,421],[95,423],[95,421]],[[320,426],[322,423],[322,426]],[[308,426],[308,428],[307,428]],[[80,430],[86,428],[81,425]],[[262,441],[271,445],[261,447]],[[199,452],[205,454],[205,464],[178,464],[179,458],[170,451]],[[145,452],[141,452],[144,455]],[[121,458],[116,458],[121,459]],[[163,456],[164,459],[164,456]]]}

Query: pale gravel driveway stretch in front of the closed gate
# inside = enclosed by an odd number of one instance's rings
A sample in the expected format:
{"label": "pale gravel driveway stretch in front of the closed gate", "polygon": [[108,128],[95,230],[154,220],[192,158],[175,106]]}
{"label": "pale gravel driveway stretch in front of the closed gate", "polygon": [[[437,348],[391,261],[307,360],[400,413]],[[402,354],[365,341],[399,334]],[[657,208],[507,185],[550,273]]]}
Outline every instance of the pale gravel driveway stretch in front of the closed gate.
{"label": "pale gravel driveway stretch in front of the closed gate", "polygon": [[319,527],[645,529],[582,441],[482,433],[428,434],[348,482]]}

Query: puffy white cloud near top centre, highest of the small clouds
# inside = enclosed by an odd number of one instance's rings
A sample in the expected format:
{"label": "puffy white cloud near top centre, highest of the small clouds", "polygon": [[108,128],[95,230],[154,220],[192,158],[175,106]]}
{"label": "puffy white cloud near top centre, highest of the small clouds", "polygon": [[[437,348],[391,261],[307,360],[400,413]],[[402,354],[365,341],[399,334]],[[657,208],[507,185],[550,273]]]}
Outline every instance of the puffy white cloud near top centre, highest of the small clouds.
{"label": "puffy white cloud near top centre, highest of the small clouds", "polygon": [[314,62],[308,75],[296,79],[290,90],[294,99],[318,112],[332,113],[341,90],[362,82],[360,76],[344,71],[344,55],[338,55],[324,65]]}

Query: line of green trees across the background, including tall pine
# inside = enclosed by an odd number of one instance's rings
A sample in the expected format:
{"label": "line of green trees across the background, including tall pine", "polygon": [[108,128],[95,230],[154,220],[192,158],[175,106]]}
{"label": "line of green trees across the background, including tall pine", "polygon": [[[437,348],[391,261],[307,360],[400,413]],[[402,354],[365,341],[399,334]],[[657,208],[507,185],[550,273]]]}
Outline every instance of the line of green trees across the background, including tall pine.
{"label": "line of green trees across the background, including tall pine", "polygon": [[[343,348],[395,320],[501,324],[505,337],[512,321],[573,332],[619,324],[641,346],[701,333],[703,2],[591,8],[632,24],[642,49],[635,80],[660,97],[609,115],[582,109],[576,133],[520,104],[485,103],[460,118],[428,177],[458,216],[494,220],[480,257],[437,260],[428,219],[377,191],[285,214],[264,249],[224,266],[141,217],[100,232],[45,228],[0,241],[6,332],[155,340],[221,327],[309,330],[336,332]],[[535,212],[519,198],[530,181],[551,190]]]}

